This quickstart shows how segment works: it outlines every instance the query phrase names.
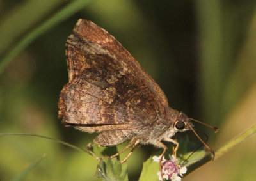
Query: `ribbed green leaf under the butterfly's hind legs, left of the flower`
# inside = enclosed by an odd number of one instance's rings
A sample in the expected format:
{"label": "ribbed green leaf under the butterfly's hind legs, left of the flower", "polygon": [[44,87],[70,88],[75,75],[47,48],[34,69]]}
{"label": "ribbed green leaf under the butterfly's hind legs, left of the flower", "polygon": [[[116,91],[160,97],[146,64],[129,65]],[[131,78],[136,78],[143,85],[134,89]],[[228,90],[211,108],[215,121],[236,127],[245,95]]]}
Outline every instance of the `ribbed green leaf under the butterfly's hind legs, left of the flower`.
{"label": "ribbed green leaf under the butterfly's hind legs, left of the flower", "polygon": [[109,181],[128,180],[127,164],[121,164],[116,158],[105,157],[99,162],[96,175]]}

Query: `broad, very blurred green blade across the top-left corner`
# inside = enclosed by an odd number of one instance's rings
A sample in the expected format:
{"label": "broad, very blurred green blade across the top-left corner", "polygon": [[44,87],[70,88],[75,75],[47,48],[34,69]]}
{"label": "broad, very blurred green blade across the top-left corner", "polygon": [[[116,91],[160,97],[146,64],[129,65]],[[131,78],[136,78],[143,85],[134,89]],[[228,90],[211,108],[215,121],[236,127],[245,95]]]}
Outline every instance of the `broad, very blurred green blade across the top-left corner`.
{"label": "broad, very blurred green blade across the top-left corner", "polygon": [[[6,6],[0,16],[0,55],[15,45],[32,28],[38,26],[46,17],[51,17],[56,10],[63,8],[63,4],[68,4],[70,0],[52,1],[16,1],[12,8]],[[1,6],[3,8],[3,6]]]}

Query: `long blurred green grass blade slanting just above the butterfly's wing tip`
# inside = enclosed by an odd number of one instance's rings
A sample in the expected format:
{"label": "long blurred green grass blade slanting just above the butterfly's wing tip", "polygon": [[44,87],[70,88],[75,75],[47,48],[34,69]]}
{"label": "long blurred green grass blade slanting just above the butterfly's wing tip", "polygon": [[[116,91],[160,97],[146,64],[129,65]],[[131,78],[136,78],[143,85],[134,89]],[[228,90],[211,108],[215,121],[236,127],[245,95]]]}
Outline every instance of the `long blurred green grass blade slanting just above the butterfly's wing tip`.
{"label": "long blurred green grass blade slanting just above the butterfly's wing tip", "polygon": [[33,42],[38,36],[42,35],[45,31],[53,28],[61,21],[67,19],[74,13],[78,12],[79,10],[83,9],[91,0],[76,0],[72,1],[72,3],[65,6],[60,12],[56,13],[53,17],[49,20],[46,20],[40,26],[35,28],[31,31],[28,35],[24,36],[20,42],[18,42],[0,62],[0,74],[3,73],[4,68],[7,67],[8,63],[12,61],[12,59],[19,54],[25,47],[29,45],[29,43]]}

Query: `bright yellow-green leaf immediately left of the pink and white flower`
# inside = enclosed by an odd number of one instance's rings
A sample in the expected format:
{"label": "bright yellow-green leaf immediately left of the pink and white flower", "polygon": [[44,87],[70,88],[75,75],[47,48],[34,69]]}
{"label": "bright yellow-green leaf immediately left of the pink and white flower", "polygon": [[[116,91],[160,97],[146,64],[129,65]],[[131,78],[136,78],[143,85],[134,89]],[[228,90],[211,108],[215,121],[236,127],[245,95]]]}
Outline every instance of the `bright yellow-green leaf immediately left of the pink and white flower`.
{"label": "bright yellow-green leaf immediately left of the pink and white flower", "polygon": [[157,172],[159,171],[159,163],[153,162],[152,157],[150,157],[143,164],[143,169],[141,171],[140,180],[139,181],[158,181]]}

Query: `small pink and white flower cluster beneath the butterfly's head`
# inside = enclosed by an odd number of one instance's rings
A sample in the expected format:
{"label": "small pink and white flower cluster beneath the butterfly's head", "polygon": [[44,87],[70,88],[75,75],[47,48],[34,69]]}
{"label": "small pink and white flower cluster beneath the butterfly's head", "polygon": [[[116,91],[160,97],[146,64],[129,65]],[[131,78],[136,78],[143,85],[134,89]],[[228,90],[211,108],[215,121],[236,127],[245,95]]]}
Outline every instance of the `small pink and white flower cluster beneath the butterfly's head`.
{"label": "small pink and white flower cluster beneath the butterfly's head", "polygon": [[[161,157],[161,156],[160,156]],[[159,162],[160,157],[154,156],[153,161]],[[181,177],[183,177],[183,174],[187,172],[186,166],[179,166],[176,164],[177,160],[175,159],[174,155],[169,155],[169,160],[162,159],[162,172],[163,177],[161,175],[161,171],[157,172],[157,175],[159,177],[159,180],[172,180],[172,181],[180,181]]]}

